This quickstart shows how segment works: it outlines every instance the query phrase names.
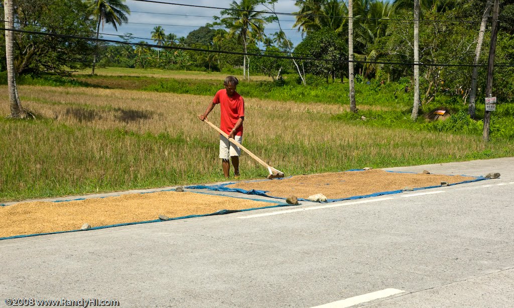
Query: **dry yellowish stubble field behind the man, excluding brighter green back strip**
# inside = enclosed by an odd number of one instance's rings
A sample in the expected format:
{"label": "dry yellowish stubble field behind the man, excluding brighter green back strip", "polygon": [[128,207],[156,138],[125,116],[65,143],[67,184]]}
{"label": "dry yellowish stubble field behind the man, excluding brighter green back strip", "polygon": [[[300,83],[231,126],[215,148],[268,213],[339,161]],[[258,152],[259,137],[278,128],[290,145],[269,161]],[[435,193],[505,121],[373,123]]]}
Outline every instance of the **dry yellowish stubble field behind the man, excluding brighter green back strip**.
{"label": "dry yellowish stubble field behind the man, excluding brighter green back strip", "polygon": [[[0,202],[224,180],[217,133],[197,119],[211,96],[33,85],[19,92],[38,119],[0,119]],[[0,93],[7,102],[7,87]],[[286,175],[514,154],[506,139],[483,143],[477,135],[345,120],[343,104],[245,102],[245,147]],[[7,103],[0,114],[9,114]],[[219,123],[218,108],[209,118]],[[267,171],[243,155],[241,175],[262,178]]]}

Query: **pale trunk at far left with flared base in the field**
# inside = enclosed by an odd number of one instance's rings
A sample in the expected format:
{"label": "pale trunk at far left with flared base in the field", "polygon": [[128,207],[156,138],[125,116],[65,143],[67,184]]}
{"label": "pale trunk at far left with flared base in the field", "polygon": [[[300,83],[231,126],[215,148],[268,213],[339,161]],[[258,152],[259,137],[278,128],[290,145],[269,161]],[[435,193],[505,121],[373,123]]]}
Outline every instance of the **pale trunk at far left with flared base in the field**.
{"label": "pale trunk at far left with flared base in the field", "polygon": [[20,103],[18,91],[16,87],[16,71],[14,70],[14,8],[11,0],[4,1],[5,9],[5,53],[7,58],[7,87],[9,92],[9,102],[11,106],[10,118],[21,118],[23,108]]}

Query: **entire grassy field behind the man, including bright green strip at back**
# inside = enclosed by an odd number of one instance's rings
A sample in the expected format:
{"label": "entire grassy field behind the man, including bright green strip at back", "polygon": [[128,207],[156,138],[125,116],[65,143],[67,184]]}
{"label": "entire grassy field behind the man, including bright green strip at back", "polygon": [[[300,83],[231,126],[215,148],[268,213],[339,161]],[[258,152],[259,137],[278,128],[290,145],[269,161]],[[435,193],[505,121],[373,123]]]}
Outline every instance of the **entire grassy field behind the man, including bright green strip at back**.
{"label": "entire grassy field behind the man, including bright green strip at back", "polygon": [[[0,143],[9,145],[0,147],[0,202],[224,180],[216,133],[196,118],[222,80],[25,79],[22,103],[39,118],[0,119]],[[347,84],[242,82],[245,147],[287,175],[514,155],[514,104],[497,106],[484,143],[483,104],[475,121],[460,100],[438,96],[424,110],[444,105],[452,117],[413,122],[412,93],[403,87],[358,83],[353,114]],[[5,105],[0,110],[8,113]],[[215,110],[210,119],[218,117]],[[242,179],[266,176],[248,155],[241,159]]]}

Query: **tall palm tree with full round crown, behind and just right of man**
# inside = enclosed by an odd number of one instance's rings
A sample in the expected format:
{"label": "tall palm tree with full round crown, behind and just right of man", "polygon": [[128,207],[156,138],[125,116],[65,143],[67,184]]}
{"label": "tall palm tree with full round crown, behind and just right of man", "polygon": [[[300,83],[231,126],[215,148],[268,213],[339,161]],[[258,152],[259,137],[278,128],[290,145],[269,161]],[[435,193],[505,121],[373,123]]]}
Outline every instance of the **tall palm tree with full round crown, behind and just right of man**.
{"label": "tall palm tree with full round crown, behind and just right of man", "polygon": [[[227,15],[220,20],[221,24],[230,29],[230,35],[237,35],[237,39],[243,44],[244,52],[248,44],[254,41],[264,32],[264,25],[271,21],[270,17],[263,17],[263,13],[255,11],[255,7],[262,4],[264,0],[235,0],[230,4],[230,9],[221,11],[222,15]],[[219,19],[214,16],[214,19]],[[248,56],[243,58],[243,76],[246,78]],[[248,73],[248,80],[250,79]]]}

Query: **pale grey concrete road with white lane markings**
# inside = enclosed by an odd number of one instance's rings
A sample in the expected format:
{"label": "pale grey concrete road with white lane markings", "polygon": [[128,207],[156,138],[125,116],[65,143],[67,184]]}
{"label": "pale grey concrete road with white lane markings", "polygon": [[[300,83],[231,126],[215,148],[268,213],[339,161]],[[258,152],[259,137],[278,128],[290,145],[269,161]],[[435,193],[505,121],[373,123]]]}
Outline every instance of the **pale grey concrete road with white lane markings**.
{"label": "pale grey concrete road with white lane markings", "polygon": [[0,307],[12,298],[122,307],[514,306],[514,158],[387,170],[424,169],[501,177],[3,240]]}

